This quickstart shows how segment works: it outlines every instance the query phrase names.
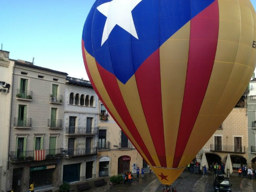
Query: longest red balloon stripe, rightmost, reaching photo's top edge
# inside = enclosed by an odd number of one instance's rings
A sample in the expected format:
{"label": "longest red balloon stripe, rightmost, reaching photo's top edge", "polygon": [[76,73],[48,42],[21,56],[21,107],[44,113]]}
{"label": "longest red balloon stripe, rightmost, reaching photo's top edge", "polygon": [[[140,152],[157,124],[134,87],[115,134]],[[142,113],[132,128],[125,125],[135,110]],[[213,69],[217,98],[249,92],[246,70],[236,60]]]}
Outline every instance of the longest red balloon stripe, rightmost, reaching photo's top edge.
{"label": "longest red balloon stripe, rightmost, reaching photo's top edge", "polygon": [[191,20],[186,86],[173,168],[177,168],[196,122],[210,80],[219,31],[218,0]]}

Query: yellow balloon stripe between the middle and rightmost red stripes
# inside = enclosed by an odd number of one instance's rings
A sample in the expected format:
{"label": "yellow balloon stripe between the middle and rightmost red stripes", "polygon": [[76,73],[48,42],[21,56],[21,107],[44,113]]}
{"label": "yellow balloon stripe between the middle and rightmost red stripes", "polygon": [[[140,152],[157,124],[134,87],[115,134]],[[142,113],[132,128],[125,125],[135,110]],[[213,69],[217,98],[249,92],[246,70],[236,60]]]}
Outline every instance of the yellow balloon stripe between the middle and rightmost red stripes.
{"label": "yellow balloon stripe between the middle and rightmost red stripes", "polygon": [[160,47],[162,112],[167,167],[172,167],[176,148],[186,84],[189,42],[190,22]]}

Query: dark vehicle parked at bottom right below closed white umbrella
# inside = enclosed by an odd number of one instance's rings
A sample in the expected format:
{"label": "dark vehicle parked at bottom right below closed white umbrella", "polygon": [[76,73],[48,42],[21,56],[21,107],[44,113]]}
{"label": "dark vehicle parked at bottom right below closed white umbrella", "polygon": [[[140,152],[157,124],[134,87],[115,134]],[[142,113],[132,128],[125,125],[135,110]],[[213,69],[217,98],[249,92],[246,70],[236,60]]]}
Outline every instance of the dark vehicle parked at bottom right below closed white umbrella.
{"label": "dark vehicle parked at bottom right below closed white umbrella", "polygon": [[224,192],[224,191],[232,192],[231,191],[232,185],[230,185],[229,178],[225,177],[224,175],[215,176],[213,186],[214,186],[214,192]]}

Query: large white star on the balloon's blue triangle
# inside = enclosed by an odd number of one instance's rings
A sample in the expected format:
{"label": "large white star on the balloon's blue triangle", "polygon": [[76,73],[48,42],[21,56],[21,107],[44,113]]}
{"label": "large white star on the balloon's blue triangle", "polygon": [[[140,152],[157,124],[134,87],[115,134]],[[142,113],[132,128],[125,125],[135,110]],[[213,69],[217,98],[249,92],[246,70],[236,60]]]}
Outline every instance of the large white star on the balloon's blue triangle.
{"label": "large white star on the balloon's blue triangle", "polygon": [[107,17],[102,34],[101,45],[108,39],[109,34],[116,25],[138,39],[132,18],[132,10],[141,1],[142,0],[112,0],[111,2],[101,4],[97,7],[99,12]]}

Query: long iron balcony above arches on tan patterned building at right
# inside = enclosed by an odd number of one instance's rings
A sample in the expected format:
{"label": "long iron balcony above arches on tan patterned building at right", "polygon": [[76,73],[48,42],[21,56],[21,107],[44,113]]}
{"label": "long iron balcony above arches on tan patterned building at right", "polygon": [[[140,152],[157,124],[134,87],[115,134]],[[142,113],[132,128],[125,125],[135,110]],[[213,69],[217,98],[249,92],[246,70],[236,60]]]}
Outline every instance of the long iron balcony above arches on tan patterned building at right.
{"label": "long iron balcony above arches on tan patterned building at right", "polygon": [[229,145],[211,144],[210,147],[211,147],[211,151],[214,151],[214,152],[245,154],[245,146],[229,146]]}

